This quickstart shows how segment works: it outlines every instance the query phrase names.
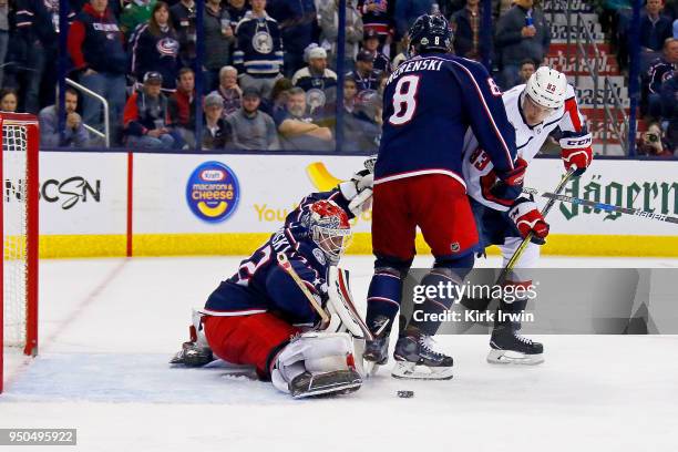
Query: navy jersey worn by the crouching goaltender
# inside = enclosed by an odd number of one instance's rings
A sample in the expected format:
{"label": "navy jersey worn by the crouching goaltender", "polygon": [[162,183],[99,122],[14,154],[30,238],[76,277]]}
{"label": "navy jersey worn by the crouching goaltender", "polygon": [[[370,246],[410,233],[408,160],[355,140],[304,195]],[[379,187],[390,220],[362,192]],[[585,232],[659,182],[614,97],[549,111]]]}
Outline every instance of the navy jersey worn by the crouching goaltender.
{"label": "navy jersey worn by the crouching goaltender", "polygon": [[248,316],[274,311],[292,325],[314,325],[318,320],[317,312],[292,278],[278,265],[277,254],[285,251],[306,286],[323,302],[330,265],[318,245],[302,234],[306,228],[301,224],[310,206],[320,199],[333,201],[349,218],[353,216],[348,201],[338,188],[306,196],[287,215],[285,226],[243,260],[234,276],[222,281],[207,299],[203,312],[209,316]]}

